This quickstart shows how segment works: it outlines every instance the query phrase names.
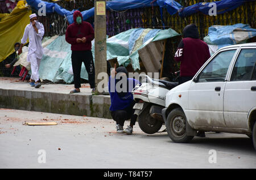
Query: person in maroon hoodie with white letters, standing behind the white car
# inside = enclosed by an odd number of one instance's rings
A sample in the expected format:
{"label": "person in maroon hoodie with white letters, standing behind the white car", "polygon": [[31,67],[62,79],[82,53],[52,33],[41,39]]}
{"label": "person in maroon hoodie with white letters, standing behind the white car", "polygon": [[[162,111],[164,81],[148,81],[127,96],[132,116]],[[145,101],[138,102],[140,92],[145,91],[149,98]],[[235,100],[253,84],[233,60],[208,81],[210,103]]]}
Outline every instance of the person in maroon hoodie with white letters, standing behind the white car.
{"label": "person in maroon hoodie with white letters, standing behind the white car", "polygon": [[208,45],[200,40],[195,24],[189,24],[183,29],[183,37],[174,57],[175,61],[180,62],[179,84],[191,80],[210,58]]}

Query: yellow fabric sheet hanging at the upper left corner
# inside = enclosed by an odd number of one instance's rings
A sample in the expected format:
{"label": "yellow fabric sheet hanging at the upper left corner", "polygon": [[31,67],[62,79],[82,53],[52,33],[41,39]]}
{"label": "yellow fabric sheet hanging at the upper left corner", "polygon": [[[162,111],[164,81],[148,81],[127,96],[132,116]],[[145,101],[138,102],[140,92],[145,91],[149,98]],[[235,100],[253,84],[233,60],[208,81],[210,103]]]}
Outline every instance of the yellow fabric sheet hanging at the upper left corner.
{"label": "yellow fabric sheet hanging at the upper left corner", "polygon": [[0,14],[0,62],[14,52],[15,42],[20,42],[26,25],[30,23],[30,14],[31,10],[25,7],[24,1],[18,1],[10,14]]}

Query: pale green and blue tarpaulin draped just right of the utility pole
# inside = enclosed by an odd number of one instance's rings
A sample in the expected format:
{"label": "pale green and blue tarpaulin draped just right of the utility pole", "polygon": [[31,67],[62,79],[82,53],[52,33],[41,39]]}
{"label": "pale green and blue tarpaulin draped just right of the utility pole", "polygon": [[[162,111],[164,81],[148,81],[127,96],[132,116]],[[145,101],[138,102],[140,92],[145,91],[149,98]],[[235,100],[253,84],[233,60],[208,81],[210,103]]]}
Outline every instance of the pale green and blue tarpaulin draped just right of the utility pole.
{"label": "pale green and blue tarpaulin draped just right of the utility pole", "polygon": [[135,28],[119,33],[107,39],[107,60],[117,58],[118,64],[127,66],[129,63],[133,70],[140,70],[138,51],[150,42],[164,40],[179,36],[173,29],[144,29]]}

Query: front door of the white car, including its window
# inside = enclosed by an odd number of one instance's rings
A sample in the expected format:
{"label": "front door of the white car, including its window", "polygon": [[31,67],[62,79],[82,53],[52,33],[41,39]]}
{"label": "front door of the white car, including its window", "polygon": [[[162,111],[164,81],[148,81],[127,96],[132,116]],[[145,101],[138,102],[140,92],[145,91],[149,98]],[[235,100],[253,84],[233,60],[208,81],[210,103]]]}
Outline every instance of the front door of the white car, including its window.
{"label": "front door of the white car, including its window", "polygon": [[223,50],[200,70],[188,91],[187,117],[197,126],[225,127],[223,97],[226,75],[237,49]]}

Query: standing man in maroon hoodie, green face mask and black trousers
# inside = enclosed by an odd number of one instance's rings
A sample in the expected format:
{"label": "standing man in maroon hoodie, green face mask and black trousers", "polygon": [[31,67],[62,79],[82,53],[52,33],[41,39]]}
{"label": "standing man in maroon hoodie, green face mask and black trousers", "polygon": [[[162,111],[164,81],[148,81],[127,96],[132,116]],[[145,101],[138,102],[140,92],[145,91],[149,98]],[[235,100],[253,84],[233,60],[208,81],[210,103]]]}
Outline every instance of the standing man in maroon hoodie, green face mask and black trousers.
{"label": "standing man in maroon hoodie, green face mask and black trousers", "polygon": [[82,21],[82,14],[80,11],[74,12],[73,19],[74,23],[68,26],[65,35],[65,40],[71,44],[71,61],[75,83],[75,89],[70,93],[80,92],[82,62],[84,62],[86,71],[88,72],[90,88],[92,88],[92,92],[95,92],[95,69],[91,42],[94,39],[94,30],[90,23]]}

